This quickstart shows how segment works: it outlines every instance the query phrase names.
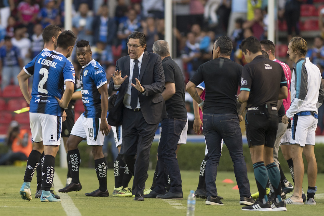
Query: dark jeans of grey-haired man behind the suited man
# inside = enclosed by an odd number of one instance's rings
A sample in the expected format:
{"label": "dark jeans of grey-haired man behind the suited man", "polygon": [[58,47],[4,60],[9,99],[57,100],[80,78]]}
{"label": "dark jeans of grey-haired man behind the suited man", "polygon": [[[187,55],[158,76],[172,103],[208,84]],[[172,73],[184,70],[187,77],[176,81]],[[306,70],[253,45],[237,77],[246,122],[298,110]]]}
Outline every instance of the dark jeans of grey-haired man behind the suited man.
{"label": "dark jeans of grey-haired man behind the suited man", "polygon": [[159,159],[159,171],[156,177],[156,187],[154,191],[165,194],[166,191],[166,171],[169,174],[171,187],[170,192],[182,193],[181,175],[177,160],[177,144],[181,132],[186,125],[187,118],[165,118],[162,119],[161,139],[157,148],[157,158]]}

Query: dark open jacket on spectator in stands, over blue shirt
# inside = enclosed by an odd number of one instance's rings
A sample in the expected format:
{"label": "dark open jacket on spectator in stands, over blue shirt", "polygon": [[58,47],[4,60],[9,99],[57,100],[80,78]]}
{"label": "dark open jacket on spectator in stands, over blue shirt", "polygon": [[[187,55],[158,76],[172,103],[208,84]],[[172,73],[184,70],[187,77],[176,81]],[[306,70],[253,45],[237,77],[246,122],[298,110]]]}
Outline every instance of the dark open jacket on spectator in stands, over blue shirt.
{"label": "dark open jacket on spectator in stands, over blue shirt", "polygon": [[[92,22],[92,32],[94,35],[94,43],[97,43],[99,41],[99,29],[100,29],[100,20],[101,16],[96,16],[93,19]],[[117,25],[113,18],[108,18],[108,34],[107,34],[107,44],[112,45],[113,39],[116,36],[117,32]]]}

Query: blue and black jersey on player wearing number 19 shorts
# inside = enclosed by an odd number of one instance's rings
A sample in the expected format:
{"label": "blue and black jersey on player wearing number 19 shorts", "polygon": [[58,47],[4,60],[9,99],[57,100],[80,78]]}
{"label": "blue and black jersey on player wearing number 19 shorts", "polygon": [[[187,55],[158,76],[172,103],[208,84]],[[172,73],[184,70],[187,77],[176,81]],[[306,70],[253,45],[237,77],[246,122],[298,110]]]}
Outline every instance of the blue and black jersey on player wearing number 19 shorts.
{"label": "blue and black jersey on player wearing number 19 shorts", "polygon": [[98,89],[105,83],[107,83],[106,72],[99,62],[92,59],[87,65],[82,66],[80,84],[85,109],[83,115],[86,118],[101,117],[101,95]]}

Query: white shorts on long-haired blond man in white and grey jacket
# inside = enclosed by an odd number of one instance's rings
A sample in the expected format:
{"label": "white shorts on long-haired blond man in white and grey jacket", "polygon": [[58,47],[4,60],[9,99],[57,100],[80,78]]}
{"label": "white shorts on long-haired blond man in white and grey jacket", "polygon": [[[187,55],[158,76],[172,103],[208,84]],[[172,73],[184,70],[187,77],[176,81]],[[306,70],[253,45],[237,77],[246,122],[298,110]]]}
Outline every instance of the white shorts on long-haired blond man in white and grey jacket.
{"label": "white shorts on long-haired blond man in white and grey jacket", "polygon": [[291,125],[290,144],[315,145],[315,130],[318,119],[313,115],[295,115]]}

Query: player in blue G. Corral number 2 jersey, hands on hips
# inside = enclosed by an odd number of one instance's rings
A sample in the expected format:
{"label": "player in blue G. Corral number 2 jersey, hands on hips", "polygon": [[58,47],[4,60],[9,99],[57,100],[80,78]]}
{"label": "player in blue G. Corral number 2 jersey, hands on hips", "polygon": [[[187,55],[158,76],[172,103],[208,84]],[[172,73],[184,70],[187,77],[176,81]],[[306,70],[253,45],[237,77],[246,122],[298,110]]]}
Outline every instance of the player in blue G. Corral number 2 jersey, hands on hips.
{"label": "player in blue G. Corral number 2 jersey, hands on hips", "polygon": [[[30,129],[36,145],[44,145],[42,168],[41,202],[61,202],[50,193],[54,177],[55,156],[61,144],[63,108],[66,108],[73,94],[75,71],[67,59],[73,51],[76,36],[72,31],[64,31],[57,38],[54,51],[38,54],[18,75],[20,89],[29,103]],[[28,91],[28,78],[34,75],[31,95]],[[63,86],[66,89],[63,93]],[[20,188],[23,199],[31,200],[30,180],[26,176],[35,169],[41,153],[29,155],[24,183]],[[31,164],[31,165],[30,165]],[[28,172],[27,172],[28,171]]]}

